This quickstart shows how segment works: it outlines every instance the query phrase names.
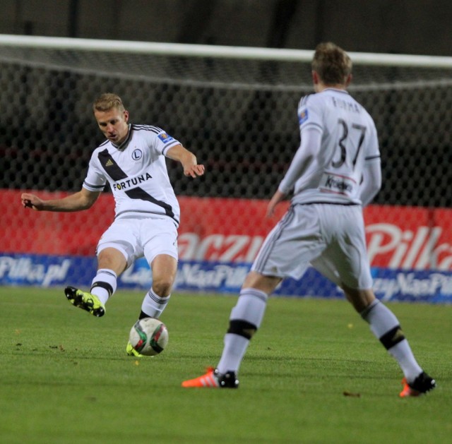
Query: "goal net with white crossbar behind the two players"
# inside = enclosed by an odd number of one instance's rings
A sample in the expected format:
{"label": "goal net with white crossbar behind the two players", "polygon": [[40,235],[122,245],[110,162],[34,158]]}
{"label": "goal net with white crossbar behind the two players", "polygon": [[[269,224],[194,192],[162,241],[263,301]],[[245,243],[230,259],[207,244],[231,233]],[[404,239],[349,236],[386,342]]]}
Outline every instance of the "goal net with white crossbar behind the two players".
{"label": "goal net with white crossbar behind the two players", "polygon": [[[0,36],[0,188],[78,191],[102,143],[92,102],[115,92],[131,122],[164,128],[206,165],[186,180],[168,162],[177,195],[270,198],[299,145],[313,53]],[[350,56],[349,91],[379,131],[374,203],[452,207],[452,58]]]}

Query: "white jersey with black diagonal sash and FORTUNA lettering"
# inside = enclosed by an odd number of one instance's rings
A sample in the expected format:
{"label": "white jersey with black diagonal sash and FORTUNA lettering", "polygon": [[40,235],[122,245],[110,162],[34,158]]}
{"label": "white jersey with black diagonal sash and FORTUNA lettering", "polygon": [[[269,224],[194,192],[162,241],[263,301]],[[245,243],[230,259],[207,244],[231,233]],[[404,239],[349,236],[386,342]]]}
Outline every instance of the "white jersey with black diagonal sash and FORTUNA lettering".
{"label": "white jersey with black diagonal sash and FORTUNA lettering", "polygon": [[115,218],[166,215],[179,224],[179,203],[165,162],[179,141],[156,126],[130,125],[120,146],[106,140],[91,156],[83,187],[102,191],[107,181],[115,200]]}

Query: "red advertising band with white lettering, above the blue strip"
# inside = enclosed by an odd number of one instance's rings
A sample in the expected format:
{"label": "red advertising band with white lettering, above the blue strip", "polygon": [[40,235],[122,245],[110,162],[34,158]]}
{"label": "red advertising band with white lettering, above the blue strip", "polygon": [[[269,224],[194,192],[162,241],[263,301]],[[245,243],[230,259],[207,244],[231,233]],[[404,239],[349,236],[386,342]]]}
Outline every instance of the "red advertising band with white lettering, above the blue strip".
{"label": "red advertising band with white lettering, above the blue strip", "polygon": [[[20,205],[22,191],[0,191],[0,252],[93,256],[114,218],[114,201],[102,194],[83,212],[36,212]],[[64,193],[38,192],[42,198]],[[182,260],[251,263],[263,239],[287,209],[267,219],[266,200],[179,197]],[[374,267],[452,270],[452,210],[369,205],[364,210],[369,259]]]}

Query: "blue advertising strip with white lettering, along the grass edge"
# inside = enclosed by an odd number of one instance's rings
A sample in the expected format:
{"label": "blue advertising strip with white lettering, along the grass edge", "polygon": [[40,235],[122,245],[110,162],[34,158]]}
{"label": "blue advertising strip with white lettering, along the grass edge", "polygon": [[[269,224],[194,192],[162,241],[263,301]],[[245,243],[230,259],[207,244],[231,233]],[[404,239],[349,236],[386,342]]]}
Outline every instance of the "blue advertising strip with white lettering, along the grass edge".
{"label": "blue advertising strip with white lettering, along the grass edge", "polygon": [[[250,264],[212,261],[179,261],[174,291],[238,294]],[[0,254],[0,284],[37,287],[73,285],[89,288],[95,275],[96,258]],[[435,270],[391,270],[372,268],[374,291],[383,301],[452,303],[452,272]],[[118,287],[146,290],[152,284],[148,263],[142,258],[126,270]],[[340,298],[343,293],[313,268],[301,280],[287,279],[276,295]]]}

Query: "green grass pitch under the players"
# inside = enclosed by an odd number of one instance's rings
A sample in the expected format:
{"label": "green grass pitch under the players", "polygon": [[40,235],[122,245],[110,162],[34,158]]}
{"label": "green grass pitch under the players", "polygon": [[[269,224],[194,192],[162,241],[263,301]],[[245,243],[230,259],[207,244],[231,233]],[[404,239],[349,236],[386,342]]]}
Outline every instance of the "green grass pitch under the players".
{"label": "green grass pitch under the players", "polygon": [[[0,287],[2,443],[451,443],[452,307],[391,304],[438,387],[402,374],[343,300],[270,298],[238,390],[183,389],[218,363],[236,297],[177,294],[167,349],[125,354],[143,294],[94,318],[62,289]],[[346,395],[347,394],[347,395]]]}

